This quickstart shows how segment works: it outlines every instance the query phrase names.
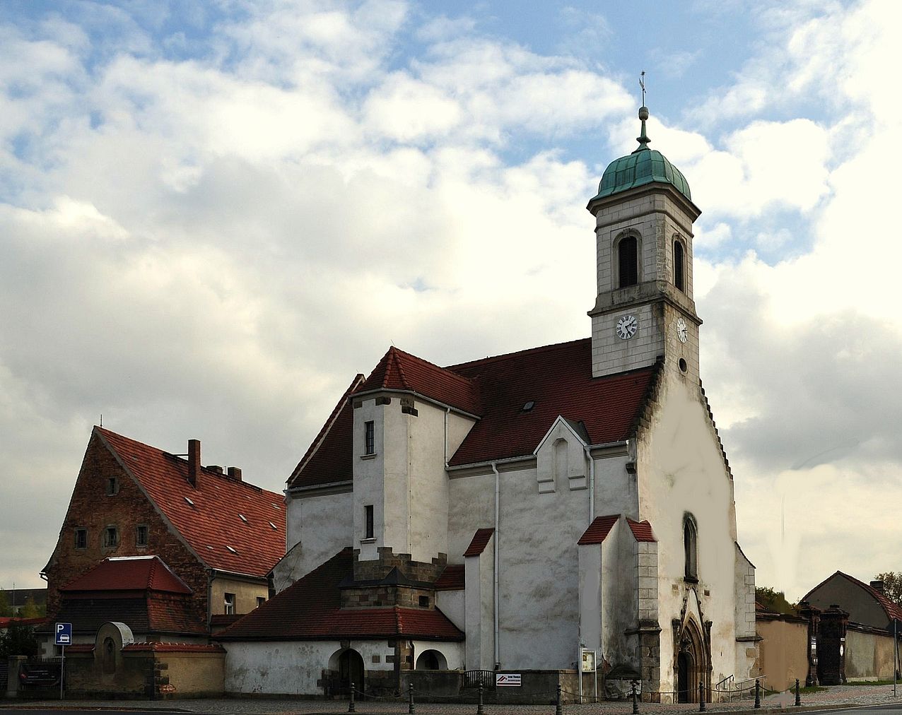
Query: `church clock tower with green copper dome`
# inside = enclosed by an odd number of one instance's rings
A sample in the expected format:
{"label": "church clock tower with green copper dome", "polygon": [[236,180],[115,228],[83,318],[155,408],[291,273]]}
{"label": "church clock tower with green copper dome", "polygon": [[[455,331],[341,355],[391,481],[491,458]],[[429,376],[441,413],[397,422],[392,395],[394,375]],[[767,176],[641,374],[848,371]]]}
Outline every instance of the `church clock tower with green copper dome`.
{"label": "church clock tower with green copper dome", "polygon": [[649,149],[647,107],[639,118],[639,147],[612,161],[586,206],[597,241],[592,372],[603,377],[663,356],[667,371],[697,383],[692,225],[701,211],[683,174]]}

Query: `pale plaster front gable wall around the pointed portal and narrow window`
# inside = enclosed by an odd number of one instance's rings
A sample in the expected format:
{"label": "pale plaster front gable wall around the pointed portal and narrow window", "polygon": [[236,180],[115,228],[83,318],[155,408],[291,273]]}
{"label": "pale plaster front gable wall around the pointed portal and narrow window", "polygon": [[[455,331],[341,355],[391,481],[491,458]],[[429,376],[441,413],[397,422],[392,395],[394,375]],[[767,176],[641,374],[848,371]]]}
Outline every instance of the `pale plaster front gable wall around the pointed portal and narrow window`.
{"label": "pale plaster front gable wall around the pointed portal and narrow window", "polygon": [[640,518],[658,537],[661,689],[674,690],[671,620],[679,618],[691,584],[684,581],[683,517],[698,526],[698,594],[711,620],[712,681],[737,673],[733,487],[700,390],[667,371],[653,424],[638,445]]}

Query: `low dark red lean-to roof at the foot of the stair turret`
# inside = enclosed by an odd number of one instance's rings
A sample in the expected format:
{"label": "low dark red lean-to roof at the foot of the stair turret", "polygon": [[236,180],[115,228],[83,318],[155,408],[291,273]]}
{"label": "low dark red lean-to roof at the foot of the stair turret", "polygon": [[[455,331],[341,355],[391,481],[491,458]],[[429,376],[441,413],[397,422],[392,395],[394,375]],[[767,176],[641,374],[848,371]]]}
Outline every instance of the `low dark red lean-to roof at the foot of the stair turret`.
{"label": "low dark red lean-to roof at the foot of the stair turret", "polygon": [[338,584],[353,573],[353,552],[345,548],[215,637],[226,641],[393,636],[464,639],[464,634],[437,609],[341,608]]}

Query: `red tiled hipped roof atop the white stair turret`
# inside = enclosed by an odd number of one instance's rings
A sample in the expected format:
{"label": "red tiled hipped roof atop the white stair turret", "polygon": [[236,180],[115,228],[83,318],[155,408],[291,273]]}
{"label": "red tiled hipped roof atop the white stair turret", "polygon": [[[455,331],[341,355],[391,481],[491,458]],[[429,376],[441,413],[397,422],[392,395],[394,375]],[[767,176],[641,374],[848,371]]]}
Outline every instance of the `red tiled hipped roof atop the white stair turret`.
{"label": "red tiled hipped roof atop the white stair turret", "polygon": [[374,390],[416,392],[471,415],[480,412],[478,392],[471,380],[393,345],[356,393]]}

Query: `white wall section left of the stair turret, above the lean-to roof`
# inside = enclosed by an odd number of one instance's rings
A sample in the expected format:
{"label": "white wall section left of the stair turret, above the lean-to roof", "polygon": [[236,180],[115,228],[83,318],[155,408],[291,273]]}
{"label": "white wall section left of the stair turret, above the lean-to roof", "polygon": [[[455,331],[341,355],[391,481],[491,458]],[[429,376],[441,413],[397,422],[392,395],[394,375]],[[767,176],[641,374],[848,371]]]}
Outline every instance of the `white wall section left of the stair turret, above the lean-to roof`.
{"label": "white wall section left of the stair turret, above the lean-to roof", "polygon": [[304,495],[293,492],[288,500],[289,552],[273,568],[276,591],[341,551],[354,545],[354,494]]}

